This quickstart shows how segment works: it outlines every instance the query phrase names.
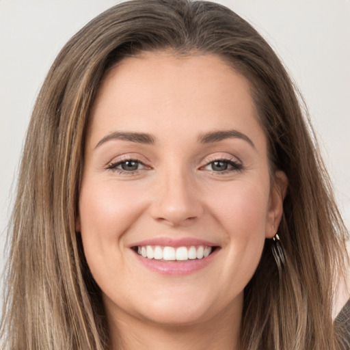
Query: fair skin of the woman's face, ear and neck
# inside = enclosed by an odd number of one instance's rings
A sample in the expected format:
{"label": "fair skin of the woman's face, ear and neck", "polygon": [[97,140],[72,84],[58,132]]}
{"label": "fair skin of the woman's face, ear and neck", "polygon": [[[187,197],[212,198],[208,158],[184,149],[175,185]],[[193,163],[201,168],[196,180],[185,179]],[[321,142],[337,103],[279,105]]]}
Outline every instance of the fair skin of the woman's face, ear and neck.
{"label": "fair skin of the woman's face, ear and neck", "polygon": [[[254,146],[241,137],[198,142],[232,129]],[[154,144],[101,142],[116,131],[151,134]],[[126,159],[139,169],[120,173]],[[213,167],[220,159],[228,171]],[[249,85],[219,57],[144,53],[108,73],[87,130],[77,230],[112,349],[239,349],[243,288],[282,216],[287,179],[273,177]],[[158,237],[219,249],[203,269],[163,275],[130,249]]]}

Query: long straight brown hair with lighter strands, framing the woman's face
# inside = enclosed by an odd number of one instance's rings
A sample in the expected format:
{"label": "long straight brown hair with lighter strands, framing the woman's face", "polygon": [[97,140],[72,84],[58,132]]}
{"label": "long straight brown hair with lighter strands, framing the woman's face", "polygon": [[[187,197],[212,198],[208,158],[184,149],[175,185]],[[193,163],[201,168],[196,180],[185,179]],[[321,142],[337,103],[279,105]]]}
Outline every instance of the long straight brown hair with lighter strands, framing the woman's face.
{"label": "long straight brown hair with lighter strands, framing the woman's face", "polygon": [[101,79],[124,57],[167,50],[219,55],[247,77],[271,169],[289,179],[279,235],[245,288],[241,348],[335,350],[336,269],[347,231],[300,96],[269,44],[237,14],[206,1],[137,0],[94,18],[62,49],[33,109],[10,223],[5,349],[108,347],[100,291],[75,232],[85,128]]}

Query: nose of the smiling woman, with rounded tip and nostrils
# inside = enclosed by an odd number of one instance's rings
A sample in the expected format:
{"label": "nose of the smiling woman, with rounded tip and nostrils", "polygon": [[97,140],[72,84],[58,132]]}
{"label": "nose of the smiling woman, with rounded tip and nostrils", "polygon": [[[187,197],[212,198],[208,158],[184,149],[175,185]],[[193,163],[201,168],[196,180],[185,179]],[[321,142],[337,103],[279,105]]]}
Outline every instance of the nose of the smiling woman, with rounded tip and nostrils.
{"label": "nose of the smiling woman, with rounded tip and nostrils", "polygon": [[185,172],[167,172],[157,179],[151,215],[170,226],[187,226],[202,216],[204,208],[198,189]]}

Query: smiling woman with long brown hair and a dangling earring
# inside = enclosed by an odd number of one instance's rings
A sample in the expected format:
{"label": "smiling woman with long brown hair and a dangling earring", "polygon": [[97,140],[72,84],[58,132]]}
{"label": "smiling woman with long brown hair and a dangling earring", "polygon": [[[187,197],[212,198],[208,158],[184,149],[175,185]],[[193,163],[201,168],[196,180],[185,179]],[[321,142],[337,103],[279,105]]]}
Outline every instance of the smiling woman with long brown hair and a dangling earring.
{"label": "smiling woman with long brown hair and a dangling earring", "polygon": [[346,349],[332,305],[347,232],[309,127],[227,8],[132,1],[95,18],[29,126],[8,349]]}

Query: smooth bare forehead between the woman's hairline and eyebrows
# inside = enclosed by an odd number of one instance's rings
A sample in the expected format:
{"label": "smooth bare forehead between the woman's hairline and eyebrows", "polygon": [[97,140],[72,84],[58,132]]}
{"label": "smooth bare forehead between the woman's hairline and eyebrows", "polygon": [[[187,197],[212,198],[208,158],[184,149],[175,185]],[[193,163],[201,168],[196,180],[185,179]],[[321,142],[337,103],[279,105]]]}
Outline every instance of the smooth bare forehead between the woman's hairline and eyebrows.
{"label": "smooth bare forehead between the woman's hairline and eyebrows", "polygon": [[87,138],[96,144],[115,129],[190,137],[232,128],[261,137],[257,120],[247,79],[217,55],[144,53],[103,79]]}

